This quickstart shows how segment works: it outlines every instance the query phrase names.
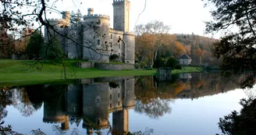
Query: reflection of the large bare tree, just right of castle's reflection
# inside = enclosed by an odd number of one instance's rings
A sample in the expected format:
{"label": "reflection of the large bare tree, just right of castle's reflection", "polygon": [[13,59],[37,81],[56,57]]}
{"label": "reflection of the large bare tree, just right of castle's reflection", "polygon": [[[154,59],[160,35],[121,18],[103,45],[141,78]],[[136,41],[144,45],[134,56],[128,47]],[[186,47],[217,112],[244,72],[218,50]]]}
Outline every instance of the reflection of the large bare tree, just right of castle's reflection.
{"label": "reflection of the large bare tree, just right of castle's reflection", "polygon": [[164,89],[158,89],[152,76],[140,77],[135,83],[135,111],[157,119],[171,113],[169,102],[173,101]]}

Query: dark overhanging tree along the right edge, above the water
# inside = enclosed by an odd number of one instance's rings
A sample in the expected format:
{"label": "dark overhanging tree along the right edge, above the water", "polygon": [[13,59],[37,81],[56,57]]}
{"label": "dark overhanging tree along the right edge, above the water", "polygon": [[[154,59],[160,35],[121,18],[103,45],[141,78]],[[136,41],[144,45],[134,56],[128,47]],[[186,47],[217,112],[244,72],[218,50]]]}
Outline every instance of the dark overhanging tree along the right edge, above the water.
{"label": "dark overhanging tree along the right edge, above the water", "polygon": [[[223,73],[242,73],[256,69],[256,1],[204,0],[215,5],[214,21],[206,22],[206,32],[226,31],[214,44],[214,55],[222,58]],[[228,32],[232,27],[238,30]],[[243,87],[252,87],[255,73],[244,80]]]}

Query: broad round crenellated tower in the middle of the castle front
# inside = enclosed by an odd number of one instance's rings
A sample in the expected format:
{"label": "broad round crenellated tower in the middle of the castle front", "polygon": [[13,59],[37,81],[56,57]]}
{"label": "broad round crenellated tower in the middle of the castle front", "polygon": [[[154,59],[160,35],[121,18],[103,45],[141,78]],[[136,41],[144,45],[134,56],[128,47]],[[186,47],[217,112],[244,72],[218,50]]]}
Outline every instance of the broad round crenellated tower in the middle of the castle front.
{"label": "broad round crenellated tower in the middle of the castle front", "polygon": [[88,13],[84,16],[83,59],[93,62],[109,62],[109,16],[93,15],[91,9]]}

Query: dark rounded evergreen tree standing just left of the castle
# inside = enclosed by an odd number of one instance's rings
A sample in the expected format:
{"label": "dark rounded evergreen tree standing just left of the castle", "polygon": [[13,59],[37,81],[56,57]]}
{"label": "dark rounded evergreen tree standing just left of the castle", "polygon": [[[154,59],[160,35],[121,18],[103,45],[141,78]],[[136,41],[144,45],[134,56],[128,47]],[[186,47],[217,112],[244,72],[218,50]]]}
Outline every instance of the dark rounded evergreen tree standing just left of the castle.
{"label": "dark rounded evergreen tree standing just left of the castle", "polygon": [[44,44],[44,37],[41,31],[37,31],[30,37],[30,42],[27,44],[26,52],[30,59],[38,59],[41,56]]}

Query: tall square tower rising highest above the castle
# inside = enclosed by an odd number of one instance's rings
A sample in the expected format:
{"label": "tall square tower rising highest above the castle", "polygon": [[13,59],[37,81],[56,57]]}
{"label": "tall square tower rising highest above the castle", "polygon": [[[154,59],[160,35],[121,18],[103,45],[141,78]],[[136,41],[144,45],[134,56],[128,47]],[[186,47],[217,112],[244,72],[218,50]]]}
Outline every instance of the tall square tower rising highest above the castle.
{"label": "tall square tower rising highest above the castle", "polygon": [[114,29],[130,31],[130,2],[128,0],[113,0]]}

